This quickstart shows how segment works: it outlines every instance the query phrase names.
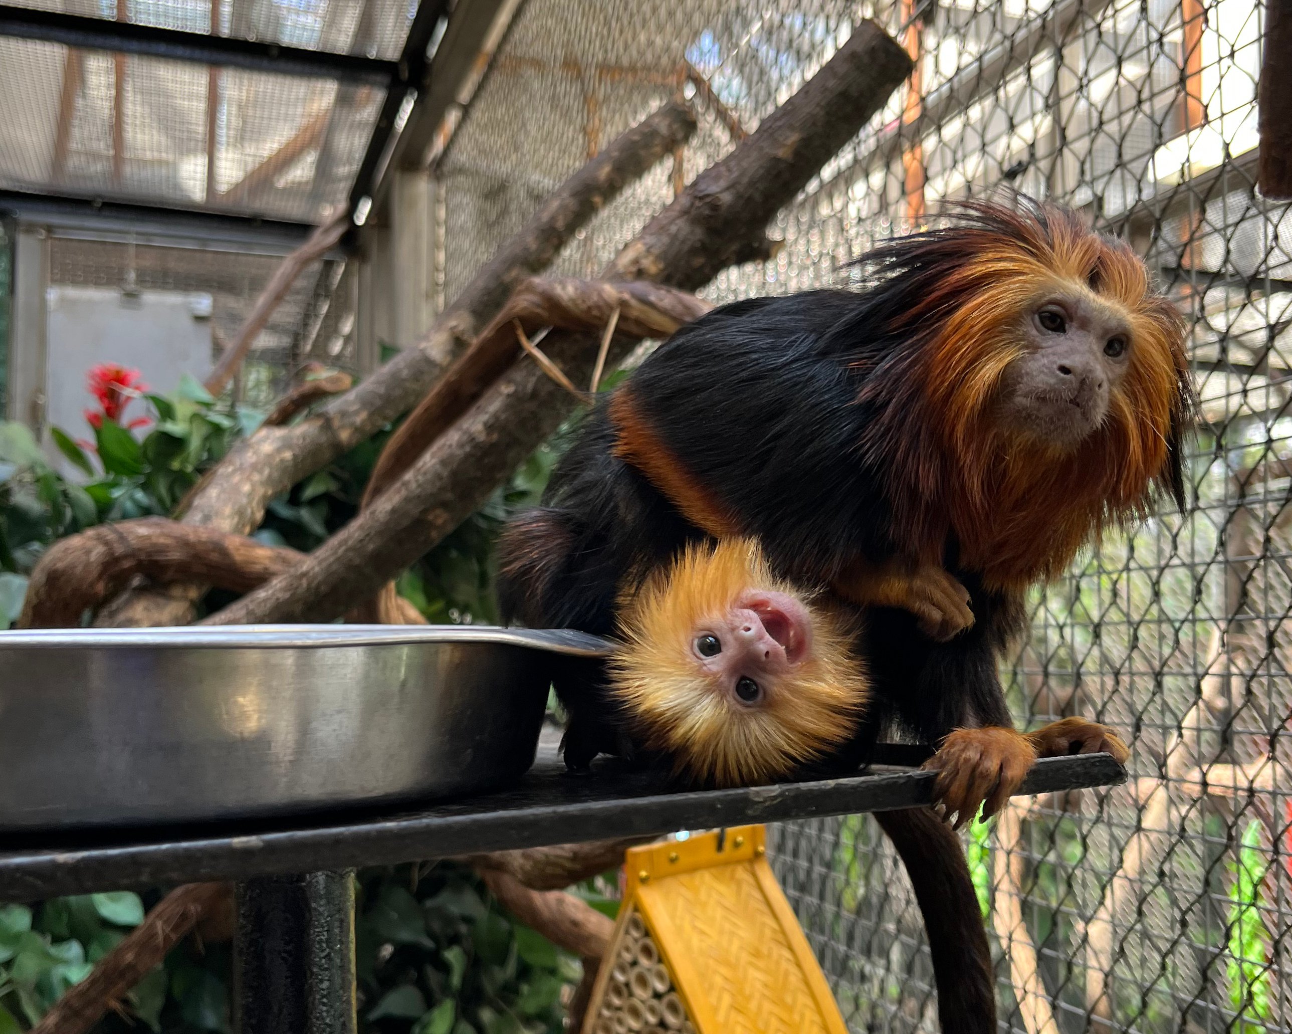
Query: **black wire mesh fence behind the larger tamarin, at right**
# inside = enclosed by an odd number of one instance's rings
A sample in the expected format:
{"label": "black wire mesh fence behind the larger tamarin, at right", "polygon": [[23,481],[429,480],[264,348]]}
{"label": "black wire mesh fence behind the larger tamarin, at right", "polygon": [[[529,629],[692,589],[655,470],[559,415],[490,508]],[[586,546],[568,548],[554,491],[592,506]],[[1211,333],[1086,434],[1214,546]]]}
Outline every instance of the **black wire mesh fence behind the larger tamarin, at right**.
{"label": "black wire mesh fence behind the larger tamarin, at right", "polygon": [[[708,297],[842,282],[941,200],[1014,186],[1124,234],[1194,327],[1191,509],[1110,536],[1037,595],[1003,666],[1019,723],[1102,719],[1133,751],[1124,788],[1019,799],[974,827],[1003,1022],[1287,1029],[1292,229],[1255,190],[1256,0],[527,0],[438,165],[442,293],[588,154],[690,98],[690,145],[562,255],[594,275],[859,17],[917,71],[782,215],[776,257]],[[792,823],[774,844],[850,1026],[935,1029],[922,924],[872,823]]]}

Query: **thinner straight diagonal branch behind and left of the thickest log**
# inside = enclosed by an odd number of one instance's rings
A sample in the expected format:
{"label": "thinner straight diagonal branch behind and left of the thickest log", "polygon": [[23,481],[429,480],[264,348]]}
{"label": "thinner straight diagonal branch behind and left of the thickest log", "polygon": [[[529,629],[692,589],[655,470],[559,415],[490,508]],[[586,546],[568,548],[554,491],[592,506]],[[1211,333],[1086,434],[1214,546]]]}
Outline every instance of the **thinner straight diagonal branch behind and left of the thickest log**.
{"label": "thinner straight diagonal branch behind and left of the thickest log", "polygon": [[[575,231],[694,132],[695,119],[685,106],[665,105],[612,141],[539,207],[416,348],[404,349],[307,420],[257,430],[213,469],[207,486],[191,500],[185,522],[252,533],[264,520],[270,499],[415,406],[506,304],[518,283],[545,269]],[[187,624],[202,591],[200,586],[162,595],[133,591],[99,620],[120,626]]]}

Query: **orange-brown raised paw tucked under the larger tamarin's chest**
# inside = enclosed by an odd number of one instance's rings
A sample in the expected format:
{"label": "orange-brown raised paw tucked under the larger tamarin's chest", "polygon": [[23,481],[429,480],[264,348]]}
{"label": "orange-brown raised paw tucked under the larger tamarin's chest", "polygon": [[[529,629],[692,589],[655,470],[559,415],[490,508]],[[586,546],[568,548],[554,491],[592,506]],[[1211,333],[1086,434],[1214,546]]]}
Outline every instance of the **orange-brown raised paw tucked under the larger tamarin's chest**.
{"label": "orange-brown raised paw tucked under the larger tamarin's chest", "polygon": [[920,631],[946,642],[973,627],[969,591],[943,567],[901,557],[884,564],[858,560],[836,579],[835,592],[860,606],[890,606],[919,619]]}

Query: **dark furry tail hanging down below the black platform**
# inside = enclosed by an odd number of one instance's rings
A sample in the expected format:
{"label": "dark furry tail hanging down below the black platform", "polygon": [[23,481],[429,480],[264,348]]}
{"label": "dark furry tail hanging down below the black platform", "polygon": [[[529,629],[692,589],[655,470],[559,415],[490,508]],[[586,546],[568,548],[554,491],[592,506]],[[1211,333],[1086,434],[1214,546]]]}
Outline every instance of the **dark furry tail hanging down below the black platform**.
{"label": "dark furry tail hanging down below the black platform", "polygon": [[995,1034],[991,949],[960,838],[928,808],[875,818],[906,865],[924,915],[942,1034]]}

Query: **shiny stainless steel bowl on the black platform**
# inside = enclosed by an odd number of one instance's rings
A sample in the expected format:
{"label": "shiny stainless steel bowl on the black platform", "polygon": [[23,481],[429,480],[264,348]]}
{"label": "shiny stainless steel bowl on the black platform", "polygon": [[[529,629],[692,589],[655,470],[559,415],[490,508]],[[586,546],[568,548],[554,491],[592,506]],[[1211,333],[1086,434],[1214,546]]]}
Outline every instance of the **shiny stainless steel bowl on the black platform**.
{"label": "shiny stainless steel bowl on the black platform", "polygon": [[579,632],[0,632],[0,830],[229,819],[478,791],[534,764]]}

